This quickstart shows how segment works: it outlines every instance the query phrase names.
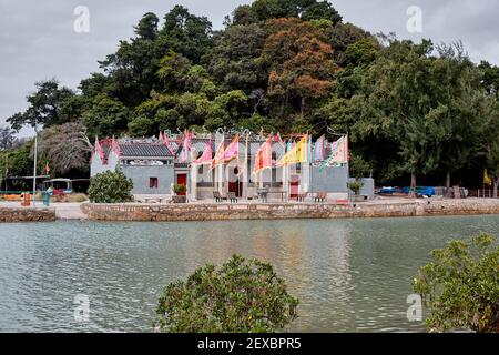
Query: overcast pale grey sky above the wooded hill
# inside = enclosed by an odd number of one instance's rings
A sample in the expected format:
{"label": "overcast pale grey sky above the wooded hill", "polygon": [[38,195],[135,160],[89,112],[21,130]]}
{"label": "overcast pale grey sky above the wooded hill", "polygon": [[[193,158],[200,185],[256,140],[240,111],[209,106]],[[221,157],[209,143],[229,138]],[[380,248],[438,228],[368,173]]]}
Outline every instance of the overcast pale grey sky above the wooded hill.
{"label": "overcast pale grey sky above the wooded hill", "polygon": [[[99,70],[98,60],[133,34],[147,11],[160,18],[176,3],[206,16],[215,29],[238,4],[251,0],[0,0],[0,125],[24,110],[35,81],[55,77],[77,88]],[[499,1],[497,0],[329,0],[344,21],[399,38],[435,42],[462,40],[473,61],[499,64]],[[77,33],[78,6],[90,10],[90,31]],[[409,32],[407,9],[421,9],[422,32]]]}

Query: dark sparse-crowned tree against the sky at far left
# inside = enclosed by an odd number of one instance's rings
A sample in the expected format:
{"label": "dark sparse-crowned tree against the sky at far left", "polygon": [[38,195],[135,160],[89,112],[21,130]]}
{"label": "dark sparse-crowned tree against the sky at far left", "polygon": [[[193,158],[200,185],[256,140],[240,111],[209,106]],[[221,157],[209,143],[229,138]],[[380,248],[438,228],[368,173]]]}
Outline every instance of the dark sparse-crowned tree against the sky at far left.
{"label": "dark sparse-crowned tree against the sky at far left", "polygon": [[19,131],[24,125],[50,126],[70,121],[70,116],[62,114],[64,100],[74,95],[73,91],[60,87],[55,79],[39,81],[35,84],[37,91],[27,97],[28,109],[18,112],[7,119],[13,130]]}

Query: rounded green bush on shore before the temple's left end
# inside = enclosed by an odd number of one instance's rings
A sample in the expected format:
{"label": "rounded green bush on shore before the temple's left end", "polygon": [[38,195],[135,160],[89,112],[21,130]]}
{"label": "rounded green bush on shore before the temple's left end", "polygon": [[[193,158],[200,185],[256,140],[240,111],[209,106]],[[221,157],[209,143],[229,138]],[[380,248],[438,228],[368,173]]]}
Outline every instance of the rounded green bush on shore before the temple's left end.
{"label": "rounded green bush on shore before the temple's left end", "polygon": [[95,203],[131,201],[133,183],[123,172],[105,171],[90,179],[89,199]]}

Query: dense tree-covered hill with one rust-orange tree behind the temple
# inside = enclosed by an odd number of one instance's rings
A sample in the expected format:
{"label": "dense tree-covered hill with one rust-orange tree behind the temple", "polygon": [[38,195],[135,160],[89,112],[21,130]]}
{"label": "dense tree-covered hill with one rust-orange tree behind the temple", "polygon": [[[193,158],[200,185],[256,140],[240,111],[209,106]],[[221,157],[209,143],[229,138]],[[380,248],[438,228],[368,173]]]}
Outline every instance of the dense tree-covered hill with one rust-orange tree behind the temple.
{"label": "dense tree-covered hill with one rust-orange tree behind the temple", "polygon": [[379,183],[481,186],[487,168],[499,184],[499,68],[460,43],[375,37],[317,0],[256,0],[217,31],[182,6],[160,18],[139,19],[78,90],[35,83],[8,123],[75,123],[92,139],[226,126],[332,140],[332,128]]}

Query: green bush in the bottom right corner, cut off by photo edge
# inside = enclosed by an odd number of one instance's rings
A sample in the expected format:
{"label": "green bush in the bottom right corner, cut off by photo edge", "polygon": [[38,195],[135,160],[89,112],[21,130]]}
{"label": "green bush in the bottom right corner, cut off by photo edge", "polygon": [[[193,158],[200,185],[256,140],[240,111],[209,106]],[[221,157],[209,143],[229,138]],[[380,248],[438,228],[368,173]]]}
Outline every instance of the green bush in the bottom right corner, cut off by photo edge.
{"label": "green bush in the bottom right corner, cut off by photo edge", "polygon": [[413,282],[430,315],[430,332],[452,328],[499,332],[499,246],[480,234],[471,243],[452,241],[432,252],[434,261]]}

